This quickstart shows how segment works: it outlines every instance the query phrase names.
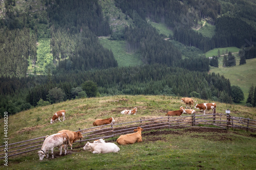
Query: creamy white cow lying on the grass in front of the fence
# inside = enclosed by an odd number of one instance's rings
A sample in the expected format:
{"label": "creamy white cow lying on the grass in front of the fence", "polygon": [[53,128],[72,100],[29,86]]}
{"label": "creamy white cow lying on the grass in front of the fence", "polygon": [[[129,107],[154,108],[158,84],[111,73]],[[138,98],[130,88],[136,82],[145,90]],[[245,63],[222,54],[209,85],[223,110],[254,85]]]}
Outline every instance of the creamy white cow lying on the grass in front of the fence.
{"label": "creamy white cow lying on the grass in front of the fence", "polygon": [[116,153],[120,151],[120,148],[115,143],[90,143],[89,141],[84,145],[83,149],[94,154]]}

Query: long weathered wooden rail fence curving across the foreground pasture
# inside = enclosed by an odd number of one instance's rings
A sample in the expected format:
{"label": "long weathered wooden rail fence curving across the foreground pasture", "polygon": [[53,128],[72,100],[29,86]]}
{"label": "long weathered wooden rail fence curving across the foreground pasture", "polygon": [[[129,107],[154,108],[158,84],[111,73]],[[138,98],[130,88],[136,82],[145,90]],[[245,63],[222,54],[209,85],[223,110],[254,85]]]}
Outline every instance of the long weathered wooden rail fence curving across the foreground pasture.
{"label": "long weathered wooden rail fence curving across the foreground pasture", "polygon": [[[83,138],[75,141],[93,141],[99,138],[118,137],[122,134],[133,133],[134,129],[141,127],[143,132],[156,129],[172,129],[173,127],[198,127],[198,128],[221,128],[221,129],[243,129],[246,131],[256,131],[256,120],[243,117],[234,117],[227,114],[202,114],[175,116],[175,117],[158,117],[150,119],[140,119],[133,122],[102,125],[87,129],[78,129],[83,135]],[[142,138],[143,138],[142,132]],[[50,135],[50,134],[49,134]],[[5,158],[6,153],[8,157],[25,154],[32,151],[39,151],[42,143],[44,143],[45,136],[29,139],[25,141],[8,144],[8,153],[5,152],[6,145],[0,146],[0,159]],[[75,148],[75,143],[73,148]],[[85,144],[85,143],[84,143]]]}

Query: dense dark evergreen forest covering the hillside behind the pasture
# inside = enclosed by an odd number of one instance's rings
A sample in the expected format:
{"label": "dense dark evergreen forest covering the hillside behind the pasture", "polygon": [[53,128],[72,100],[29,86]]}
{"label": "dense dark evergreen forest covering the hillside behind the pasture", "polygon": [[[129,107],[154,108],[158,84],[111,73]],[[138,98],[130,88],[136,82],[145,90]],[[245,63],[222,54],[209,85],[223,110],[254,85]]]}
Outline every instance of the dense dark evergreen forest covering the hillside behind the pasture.
{"label": "dense dark evergreen forest covering the hillside behind the pasture", "polygon": [[[114,2],[133,21],[115,32],[109,23],[113,18],[104,16],[100,1],[0,1],[1,114],[116,94],[234,101],[229,80],[207,74],[210,65],[218,67],[218,58],[209,60],[202,53],[215,47],[237,46],[242,48],[244,60],[255,57],[256,4],[252,0]],[[147,18],[172,30],[170,40],[164,40],[167,37],[160,35]],[[212,38],[192,29],[202,20],[215,25]],[[138,53],[143,65],[118,67],[113,52],[99,43],[99,36],[124,40],[127,53]],[[45,76],[27,77],[29,63],[37,67],[37,46],[42,38],[50,41],[52,61],[45,67]],[[194,50],[180,48],[177,41]],[[226,64],[233,64],[232,55]],[[88,86],[96,87],[95,93]],[[59,100],[52,94],[58,94]]]}

